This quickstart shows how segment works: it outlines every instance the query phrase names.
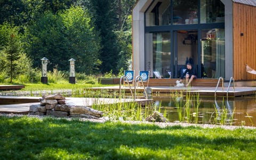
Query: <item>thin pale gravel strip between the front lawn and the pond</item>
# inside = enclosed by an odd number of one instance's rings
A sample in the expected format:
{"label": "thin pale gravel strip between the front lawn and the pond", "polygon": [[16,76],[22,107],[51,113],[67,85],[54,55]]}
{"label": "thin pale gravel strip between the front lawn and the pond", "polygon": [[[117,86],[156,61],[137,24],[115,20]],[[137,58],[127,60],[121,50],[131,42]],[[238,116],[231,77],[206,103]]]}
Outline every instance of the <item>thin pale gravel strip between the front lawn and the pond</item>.
{"label": "thin pale gravel strip between the front lawn and the pond", "polygon": [[[6,117],[22,117],[22,116],[28,116],[28,117],[37,117],[39,119],[46,118],[47,116],[37,116],[37,115],[18,115],[18,114],[1,114],[0,116],[6,116]],[[62,117],[63,118],[63,117]],[[72,118],[67,118],[71,120]],[[90,122],[95,122],[95,123],[105,123],[108,122],[109,119],[107,117],[102,117],[99,119],[88,119],[88,118],[79,118],[80,121],[90,121]],[[159,127],[165,128],[168,126],[182,126],[182,127],[188,127],[188,126],[195,126],[195,127],[202,127],[204,129],[206,128],[221,128],[221,129],[226,129],[226,130],[235,130],[235,129],[251,129],[255,130],[256,127],[252,126],[230,126],[230,125],[213,125],[213,124],[190,124],[190,123],[173,123],[173,122],[166,122],[166,123],[161,123],[161,122],[141,122],[141,121],[111,121],[111,122],[121,122],[121,123],[129,123],[129,124],[154,124]]]}

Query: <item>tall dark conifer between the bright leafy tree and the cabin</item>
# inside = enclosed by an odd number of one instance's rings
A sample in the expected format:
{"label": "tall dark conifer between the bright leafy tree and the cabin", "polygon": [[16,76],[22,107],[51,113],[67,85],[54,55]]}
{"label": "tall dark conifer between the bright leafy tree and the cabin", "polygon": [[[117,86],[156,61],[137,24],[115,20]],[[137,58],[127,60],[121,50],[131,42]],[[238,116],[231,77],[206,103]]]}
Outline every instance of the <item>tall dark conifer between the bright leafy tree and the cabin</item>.
{"label": "tall dark conifer between the bright leafy tree and the cabin", "polygon": [[95,19],[95,29],[99,30],[101,37],[100,67],[102,73],[113,70],[117,73],[117,62],[119,46],[115,34],[118,23],[115,6],[117,1],[113,0],[94,0],[90,1],[93,18]]}

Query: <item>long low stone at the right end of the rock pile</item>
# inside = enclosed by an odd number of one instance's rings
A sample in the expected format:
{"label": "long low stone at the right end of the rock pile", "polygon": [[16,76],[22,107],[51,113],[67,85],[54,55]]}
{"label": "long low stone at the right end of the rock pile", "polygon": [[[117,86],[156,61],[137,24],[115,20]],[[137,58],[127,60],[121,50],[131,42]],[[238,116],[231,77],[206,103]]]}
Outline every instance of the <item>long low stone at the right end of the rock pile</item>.
{"label": "long low stone at the right end of the rock pile", "polygon": [[94,117],[102,117],[103,112],[85,106],[73,106],[69,111],[70,115],[91,115]]}

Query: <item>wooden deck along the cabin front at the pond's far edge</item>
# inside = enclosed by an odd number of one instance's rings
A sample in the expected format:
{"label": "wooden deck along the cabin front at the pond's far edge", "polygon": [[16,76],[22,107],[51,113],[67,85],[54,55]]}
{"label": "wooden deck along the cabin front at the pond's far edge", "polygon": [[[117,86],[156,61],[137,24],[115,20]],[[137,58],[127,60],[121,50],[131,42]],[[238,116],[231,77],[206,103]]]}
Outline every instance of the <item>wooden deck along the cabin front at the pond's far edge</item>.
{"label": "wooden deck along the cabin front at the pond's far edge", "polygon": [[[110,78],[111,79],[111,78]],[[108,79],[109,80],[109,79]],[[175,92],[182,92],[186,94],[187,92],[197,92],[200,95],[206,95],[206,96],[214,96],[215,95],[215,89],[218,84],[219,79],[211,79],[211,78],[197,78],[191,83],[191,87],[175,87],[176,81],[179,80],[178,78],[163,78],[163,79],[157,79],[157,78],[150,78],[149,79],[149,87],[153,90],[153,93],[175,93]],[[101,79],[101,82],[104,82],[104,79]],[[109,92],[118,92],[119,91],[119,82],[118,78],[111,79],[112,84],[117,84],[117,86],[111,86],[111,87],[94,87],[92,89],[88,90],[107,90]],[[107,82],[105,82],[107,83]],[[144,83],[146,86],[146,83]],[[230,97],[239,97],[242,95],[252,95],[256,93],[256,82],[254,81],[239,81],[233,82],[230,85],[228,94],[229,81],[223,82],[223,89],[222,89],[222,82],[219,83],[218,89],[216,91],[217,96],[230,96]],[[233,85],[235,86],[235,90],[233,90]],[[134,87],[132,87],[134,92]],[[123,87],[122,90],[125,90],[125,92],[129,93],[129,87]],[[143,89],[138,88],[137,92],[143,92]]]}

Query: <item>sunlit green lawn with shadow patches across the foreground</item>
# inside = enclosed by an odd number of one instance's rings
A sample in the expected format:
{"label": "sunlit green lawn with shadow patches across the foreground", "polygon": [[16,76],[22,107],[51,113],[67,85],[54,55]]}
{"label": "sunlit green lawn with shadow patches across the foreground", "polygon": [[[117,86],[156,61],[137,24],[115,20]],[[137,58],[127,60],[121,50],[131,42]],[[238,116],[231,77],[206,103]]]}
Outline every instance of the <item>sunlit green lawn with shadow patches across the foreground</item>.
{"label": "sunlit green lawn with shadow patches across the foreground", "polygon": [[0,116],[1,159],[254,159],[256,130]]}

